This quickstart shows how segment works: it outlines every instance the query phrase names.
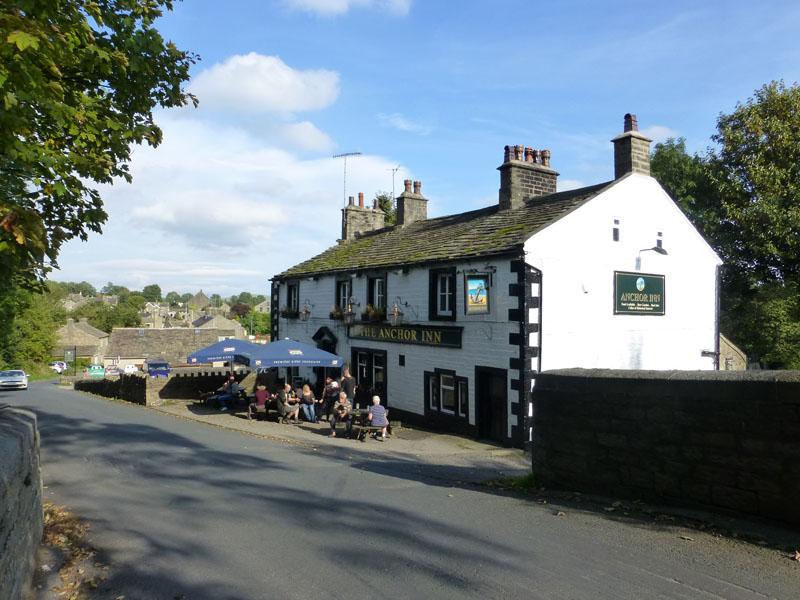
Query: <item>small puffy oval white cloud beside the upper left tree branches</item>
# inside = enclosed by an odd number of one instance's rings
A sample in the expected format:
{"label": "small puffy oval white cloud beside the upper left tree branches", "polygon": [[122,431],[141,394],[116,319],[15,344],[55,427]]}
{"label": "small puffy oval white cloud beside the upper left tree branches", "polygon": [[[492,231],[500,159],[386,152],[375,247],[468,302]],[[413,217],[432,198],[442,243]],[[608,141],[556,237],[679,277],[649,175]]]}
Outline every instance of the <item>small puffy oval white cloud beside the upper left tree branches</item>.
{"label": "small puffy oval white cloud beside the upper left tree branches", "polygon": [[277,56],[231,56],[196,75],[189,90],[201,108],[251,113],[318,110],[339,97],[335,71],[292,69]]}

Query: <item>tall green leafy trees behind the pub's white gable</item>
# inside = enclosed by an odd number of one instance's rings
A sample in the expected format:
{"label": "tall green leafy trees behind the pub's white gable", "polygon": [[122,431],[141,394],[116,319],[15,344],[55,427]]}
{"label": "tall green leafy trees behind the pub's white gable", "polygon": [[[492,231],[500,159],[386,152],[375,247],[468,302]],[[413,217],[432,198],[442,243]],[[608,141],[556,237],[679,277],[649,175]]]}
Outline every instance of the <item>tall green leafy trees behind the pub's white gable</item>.
{"label": "tall green leafy trees behind the pub's white gable", "polygon": [[800,87],[772,82],[720,115],[717,148],[657,144],[653,176],[724,261],[720,328],[775,368],[800,368]]}

